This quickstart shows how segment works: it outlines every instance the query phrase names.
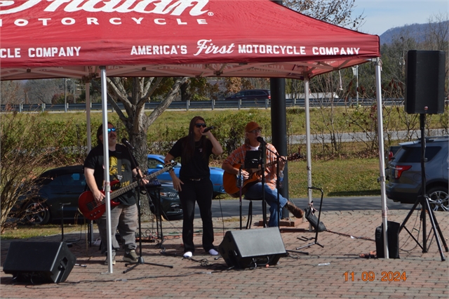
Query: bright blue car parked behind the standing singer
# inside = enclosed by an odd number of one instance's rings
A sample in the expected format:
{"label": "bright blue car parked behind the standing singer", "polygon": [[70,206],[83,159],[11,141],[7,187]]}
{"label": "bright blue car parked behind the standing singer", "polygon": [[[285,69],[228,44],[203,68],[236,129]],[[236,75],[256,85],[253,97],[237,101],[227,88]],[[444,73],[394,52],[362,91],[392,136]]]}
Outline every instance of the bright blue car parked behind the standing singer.
{"label": "bright blue car parked behind the standing singer", "polygon": [[[159,171],[163,168],[163,159],[165,157],[159,154],[149,154],[148,155],[148,173],[152,173],[154,171]],[[174,170],[176,176],[179,178],[180,176],[181,164],[176,164]],[[225,171],[222,168],[210,167],[210,180],[213,183],[213,197],[217,197],[217,195],[224,194],[225,187],[223,187],[223,173]],[[171,177],[168,172],[161,173],[157,176],[158,180],[170,180]]]}

